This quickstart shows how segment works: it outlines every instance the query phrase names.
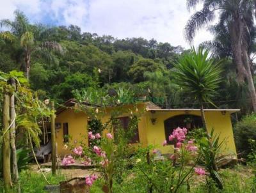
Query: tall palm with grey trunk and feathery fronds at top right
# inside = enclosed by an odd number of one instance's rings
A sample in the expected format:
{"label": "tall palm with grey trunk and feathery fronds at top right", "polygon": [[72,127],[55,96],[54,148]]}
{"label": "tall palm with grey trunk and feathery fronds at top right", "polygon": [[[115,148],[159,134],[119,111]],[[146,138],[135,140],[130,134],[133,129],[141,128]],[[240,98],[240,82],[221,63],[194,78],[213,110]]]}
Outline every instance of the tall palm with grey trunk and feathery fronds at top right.
{"label": "tall palm with grey trunk and feathery fronds at top right", "polygon": [[250,31],[253,28],[255,2],[248,0],[187,0],[189,9],[195,8],[198,3],[203,3],[203,8],[188,20],[185,27],[186,39],[191,42],[195,37],[196,30],[210,24],[218,12],[220,15],[218,24],[224,24],[230,36],[232,57],[238,72],[237,79],[239,82],[247,81],[253,110],[256,112],[256,92],[249,59],[249,48],[253,43]]}

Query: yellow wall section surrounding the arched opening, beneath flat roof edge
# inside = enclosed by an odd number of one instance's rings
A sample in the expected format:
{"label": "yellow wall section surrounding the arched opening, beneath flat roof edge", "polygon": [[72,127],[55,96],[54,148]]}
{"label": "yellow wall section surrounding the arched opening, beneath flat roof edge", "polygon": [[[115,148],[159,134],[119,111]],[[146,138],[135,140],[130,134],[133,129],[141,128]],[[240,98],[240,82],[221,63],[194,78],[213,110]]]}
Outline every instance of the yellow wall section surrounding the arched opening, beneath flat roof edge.
{"label": "yellow wall section surrounding the arched opening, beneath flat roof edge", "polygon": [[[154,115],[151,112],[147,112],[147,141],[148,144],[154,144],[157,150],[161,153],[173,153],[173,145],[163,147],[163,141],[165,140],[164,134],[164,121],[173,116],[181,114],[193,114],[200,116],[200,111],[173,111],[173,112],[155,112]],[[151,118],[156,118],[156,123],[153,125]],[[232,130],[232,124],[230,120],[230,114],[227,112],[225,115],[220,111],[206,111],[205,118],[209,131],[214,128],[215,134],[220,134],[220,141],[225,140],[223,144],[223,153],[236,154],[236,146],[234,143],[234,135]],[[170,128],[171,129],[171,128]]]}

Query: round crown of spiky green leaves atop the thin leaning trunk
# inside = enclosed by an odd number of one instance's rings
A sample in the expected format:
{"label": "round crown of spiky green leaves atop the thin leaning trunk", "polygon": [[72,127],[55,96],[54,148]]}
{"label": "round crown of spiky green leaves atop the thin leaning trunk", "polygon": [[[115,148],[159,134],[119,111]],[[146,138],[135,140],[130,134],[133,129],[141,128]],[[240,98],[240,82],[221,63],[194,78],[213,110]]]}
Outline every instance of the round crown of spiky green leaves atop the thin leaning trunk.
{"label": "round crown of spiky green leaves atop the thin leaning trunk", "polygon": [[174,81],[198,100],[211,102],[221,82],[220,63],[211,58],[209,50],[193,48],[179,58],[172,72]]}

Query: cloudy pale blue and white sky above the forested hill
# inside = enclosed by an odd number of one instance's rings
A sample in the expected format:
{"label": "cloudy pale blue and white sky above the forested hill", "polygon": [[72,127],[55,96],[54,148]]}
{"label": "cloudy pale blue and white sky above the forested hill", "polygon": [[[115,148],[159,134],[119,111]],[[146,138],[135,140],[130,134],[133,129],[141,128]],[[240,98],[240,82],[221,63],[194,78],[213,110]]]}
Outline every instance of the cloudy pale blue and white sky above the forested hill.
{"label": "cloudy pale blue and white sky above the forested hill", "polygon": [[[184,26],[193,12],[186,0],[0,0],[0,19],[13,19],[17,9],[32,23],[49,26],[70,24],[83,32],[111,35],[115,38],[154,38],[173,46],[189,48],[184,40]],[[194,44],[211,40],[200,30]]]}

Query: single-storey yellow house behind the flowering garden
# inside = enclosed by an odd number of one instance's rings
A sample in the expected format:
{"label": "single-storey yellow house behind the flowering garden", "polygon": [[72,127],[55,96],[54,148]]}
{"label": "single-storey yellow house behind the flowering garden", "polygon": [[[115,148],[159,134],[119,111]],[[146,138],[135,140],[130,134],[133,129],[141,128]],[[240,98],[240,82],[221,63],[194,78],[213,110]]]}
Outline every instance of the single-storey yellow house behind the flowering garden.
{"label": "single-storey yellow house behind the flowering garden", "polygon": [[[88,121],[90,121],[90,117],[88,114],[77,112],[76,108],[72,108],[76,107],[75,100],[68,100],[64,106],[56,112],[55,120],[57,152],[59,155],[70,153],[63,148],[67,142],[74,144],[74,146],[76,146],[76,143],[78,145],[79,142],[88,145]],[[138,131],[135,135],[136,143],[140,143],[144,147],[152,144],[161,153],[173,152],[172,144],[168,146],[162,144],[164,140],[168,141],[168,136],[174,128],[186,127],[189,131],[193,128],[202,127],[200,109],[161,109],[151,102],[108,107],[104,109],[104,113],[100,117],[102,123],[108,121],[111,111],[116,108],[127,110],[117,117],[124,123],[129,120],[127,117],[131,116],[132,112],[140,112]],[[214,128],[215,134],[220,134],[220,139],[225,139],[225,145],[223,146],[223,153],[225,154],[236,155],[230,115],[237,111],[239,109],[205,109],[205,118],[209,129]],[[65,135],[70,135],[70,139],[67,139]]]}

